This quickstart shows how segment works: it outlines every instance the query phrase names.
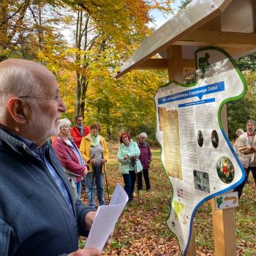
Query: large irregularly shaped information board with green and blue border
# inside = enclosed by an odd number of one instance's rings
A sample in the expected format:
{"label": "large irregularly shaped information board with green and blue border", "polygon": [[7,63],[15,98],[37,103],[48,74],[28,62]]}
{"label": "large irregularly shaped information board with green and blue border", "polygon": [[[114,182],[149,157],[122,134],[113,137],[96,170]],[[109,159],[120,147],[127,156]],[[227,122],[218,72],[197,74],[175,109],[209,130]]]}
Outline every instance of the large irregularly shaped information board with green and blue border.
{"label": "large irregularly shaped information board with green and blue border", "polygon": [[220,120],[222,106],[246,93],[233,59],[219,48],[196,52],[197,83],[170,82],[155,95],[157,140],[173,186],[167,225],[186,255],[197,208],[244,180]]}

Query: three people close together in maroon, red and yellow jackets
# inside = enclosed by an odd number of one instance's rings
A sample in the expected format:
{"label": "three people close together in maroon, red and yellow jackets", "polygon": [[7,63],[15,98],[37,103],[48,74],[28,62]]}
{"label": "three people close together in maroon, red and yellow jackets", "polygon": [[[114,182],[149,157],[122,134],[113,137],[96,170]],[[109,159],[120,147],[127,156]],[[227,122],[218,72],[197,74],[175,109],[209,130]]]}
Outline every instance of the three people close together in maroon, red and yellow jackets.
{"label": "three people close together in maroon, red and yellow jackets", "polygon": [[75,195],[80,199],[81,181],[84,178],[89,206],[93,208],[94,183],[99,206],[105,204],[103,173],[108,161],[108,146],[99,135],[100,128],[99,123],[91,124],[90,128],[83,125],[83,116],[76,116],[75,126],[71,128],[71,121],[63,118],[59,121],[59,135],[53,139],[53,148],[73,185]]}

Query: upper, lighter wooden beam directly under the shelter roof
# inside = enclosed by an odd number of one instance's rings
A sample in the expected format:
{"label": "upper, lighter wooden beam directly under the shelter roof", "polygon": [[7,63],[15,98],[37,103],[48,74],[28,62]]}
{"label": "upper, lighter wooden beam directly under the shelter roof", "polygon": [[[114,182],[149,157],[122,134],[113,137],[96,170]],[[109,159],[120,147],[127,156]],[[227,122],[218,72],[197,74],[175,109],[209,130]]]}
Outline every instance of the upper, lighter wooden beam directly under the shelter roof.
{"label": "upper, lighter wooden beam directly under the shelter roof", "polygon": [[241,48],[242,46],[256,46],[255,33],[238,33],[226,31],[205,31],[196,30],[191,34],[182,37],[173,45],[197,45],[197,46],[218,46]]}

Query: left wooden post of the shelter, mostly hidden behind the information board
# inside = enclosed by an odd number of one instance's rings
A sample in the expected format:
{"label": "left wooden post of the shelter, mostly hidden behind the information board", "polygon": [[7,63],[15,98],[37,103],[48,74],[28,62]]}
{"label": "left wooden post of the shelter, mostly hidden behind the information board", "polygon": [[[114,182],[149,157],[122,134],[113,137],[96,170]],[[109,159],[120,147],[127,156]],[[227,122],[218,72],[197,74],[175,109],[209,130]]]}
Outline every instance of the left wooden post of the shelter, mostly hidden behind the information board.
{"label": "left wooden post of the shelter, mostly hidden behind the information board", "polygon": [[[183,73],[183,57],[181,45],[170,45],[167,48],[167,64],[168,64],[168,76],[170,80],[176,80],[178,83],[184,82]],[[195,246],[195,227],[194,222],[192,225],[192,233],[189,243],[189,248],[187,250],[187,256],[196,255]]]}

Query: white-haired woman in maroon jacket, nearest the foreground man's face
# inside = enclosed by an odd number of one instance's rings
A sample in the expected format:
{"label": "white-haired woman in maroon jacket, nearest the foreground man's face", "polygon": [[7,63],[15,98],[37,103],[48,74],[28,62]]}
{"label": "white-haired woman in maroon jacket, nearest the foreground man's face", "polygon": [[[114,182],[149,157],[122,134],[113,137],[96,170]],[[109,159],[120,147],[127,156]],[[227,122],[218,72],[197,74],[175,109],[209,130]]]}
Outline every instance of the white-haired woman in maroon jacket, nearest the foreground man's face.
{"label": "white-haired woman in maroon jacket, nearest the foreground man's face", "polygon": [[75,182],[78,198],[80,198],[81,181],[88,170],[80,151],[72,141],[70,124],[71,121],[67,118],[63,118],[59,121],[60,132],[58,137],[53,141],[53,148],[56,151],[67,176],[72,178],[72,181]]}

